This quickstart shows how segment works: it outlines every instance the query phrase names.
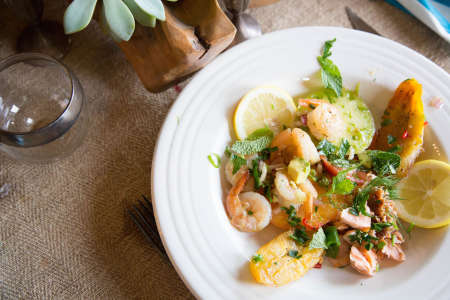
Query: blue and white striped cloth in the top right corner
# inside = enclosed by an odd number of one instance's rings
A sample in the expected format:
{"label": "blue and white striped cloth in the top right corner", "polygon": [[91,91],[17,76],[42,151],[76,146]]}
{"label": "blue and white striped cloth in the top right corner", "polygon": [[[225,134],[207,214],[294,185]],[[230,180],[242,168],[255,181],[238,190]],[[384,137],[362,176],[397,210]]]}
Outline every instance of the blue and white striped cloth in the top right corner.
{"label": "blue and white striped cloth in the top right corner", "polygon": [[415,16],[450,43],[450,0],[385,0]]}

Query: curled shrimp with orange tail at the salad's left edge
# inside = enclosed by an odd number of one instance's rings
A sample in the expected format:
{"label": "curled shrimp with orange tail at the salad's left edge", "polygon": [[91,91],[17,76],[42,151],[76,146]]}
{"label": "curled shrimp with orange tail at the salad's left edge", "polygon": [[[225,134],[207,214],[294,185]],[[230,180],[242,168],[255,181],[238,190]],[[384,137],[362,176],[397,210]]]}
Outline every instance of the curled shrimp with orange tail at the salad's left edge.
{"label": "curled shrimp with orange tail at the salad's left edge", "polygon": [[261,231],[269,225],[272,207],[261,194],[255,192],[240,194],[248,177],[248,172],[242,174],[228,193],[225,204],[234,227],[245,232]]}

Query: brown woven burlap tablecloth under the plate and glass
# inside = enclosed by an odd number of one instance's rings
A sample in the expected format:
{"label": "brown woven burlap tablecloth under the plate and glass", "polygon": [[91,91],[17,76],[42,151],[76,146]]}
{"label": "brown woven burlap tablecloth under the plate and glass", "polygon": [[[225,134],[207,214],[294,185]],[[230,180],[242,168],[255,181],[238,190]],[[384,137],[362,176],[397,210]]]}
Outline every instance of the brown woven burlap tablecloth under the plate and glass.
{"label": "brown woven burlap tablecloth under the plate and glass", "polygon": [[[47,2],[47,18],[61,19],[60,1]],[[450,46],[383,1],[282,0],[250,12],[264,32],[350,27],[346,5],[450,70]],[[22,28],[0,4],[0,57],[13,53]],[[150,195],[153,147],[177,92],[147,92],[96,24],[73,36],[64,62],[81,80],[92,124],[63,161],[28,165],[0,155],[0,184],[11,184],[0,199],[0,299],[191,298],[126,214],[141,194]]]}

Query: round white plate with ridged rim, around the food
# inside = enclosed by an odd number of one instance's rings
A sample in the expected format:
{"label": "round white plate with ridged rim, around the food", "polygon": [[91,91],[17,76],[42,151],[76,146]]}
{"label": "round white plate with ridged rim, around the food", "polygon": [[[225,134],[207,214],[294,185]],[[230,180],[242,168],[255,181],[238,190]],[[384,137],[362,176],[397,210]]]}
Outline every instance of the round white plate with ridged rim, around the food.
{"label": "round white plate with ridged rim, around the food", "polygon": [[[420,54],[385,38],[343,28],[303,27],[247,41],[220,55],[183,90],[160,132],[153,158],[152,193],[159,230],[172,263],[186,285],[205,299],[448,299],[450,234],[447,229],[415,230],[406,262],[385,267],[373,278],[351,268],[324,266],[280,288],[256,284],[248,259],[278,232],[241,233],[223,206],[223,180],[207,160],[231,140],[230,120],[239,98],[263,84],[292,95],[319,68],[324,41],[336,37],[332,60],[344,86],[358,82],[360,94],[379,119],[397,85],[416,78],[423,85],[425,113],[450,152],[450,110],[427,105],[433,96],[450,99],[450,77]],[[430,154],[431,152],[427,152]],[[291,297],[291,298],[287,298]],[[295,298],[292,298],[295,297]],[[307,298],[306,298],[307,297]]]}

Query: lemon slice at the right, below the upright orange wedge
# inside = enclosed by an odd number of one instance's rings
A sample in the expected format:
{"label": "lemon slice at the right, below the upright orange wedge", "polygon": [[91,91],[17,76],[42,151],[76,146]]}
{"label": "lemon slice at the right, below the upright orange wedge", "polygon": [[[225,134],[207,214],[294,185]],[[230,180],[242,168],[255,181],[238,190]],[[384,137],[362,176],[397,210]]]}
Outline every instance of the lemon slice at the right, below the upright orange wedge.
{"label": "lemon slice at the right, below the upright orange wedge", "polygon": [[399,184],[399,217],[419,227],[450,224],[450,165],[438,160],[418,162]]}

